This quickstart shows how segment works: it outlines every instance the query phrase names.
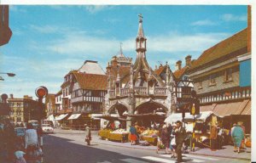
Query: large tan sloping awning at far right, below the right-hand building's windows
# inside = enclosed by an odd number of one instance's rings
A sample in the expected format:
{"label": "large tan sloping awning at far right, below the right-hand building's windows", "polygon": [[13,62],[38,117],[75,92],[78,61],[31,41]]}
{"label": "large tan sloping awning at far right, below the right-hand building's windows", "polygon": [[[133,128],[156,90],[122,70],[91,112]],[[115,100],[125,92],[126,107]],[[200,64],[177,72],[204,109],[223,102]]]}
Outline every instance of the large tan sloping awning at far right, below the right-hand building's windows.
{"label": "large tan sloping awning at far right, below the right-hand building's windows", "polygon": [[224,117],[227,115],[241,115],[241,112],[246,107],[248,101],[249,99],[235,103],[217,104],[213,110],[213,113],[220,117]]}

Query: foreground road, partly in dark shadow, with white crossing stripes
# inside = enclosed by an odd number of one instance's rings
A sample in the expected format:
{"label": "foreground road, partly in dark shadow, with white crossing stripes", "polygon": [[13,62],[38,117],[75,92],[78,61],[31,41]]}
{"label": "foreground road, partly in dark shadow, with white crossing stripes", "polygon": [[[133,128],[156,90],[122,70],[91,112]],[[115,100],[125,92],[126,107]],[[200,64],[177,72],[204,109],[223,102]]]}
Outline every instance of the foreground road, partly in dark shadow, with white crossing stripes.
{"label": "foreground road, partly in dark shadow, with white crossing stripes", "polygon": [[[236,160],[200,155],[183,155],[185,162],[243,163]],[[174,163],[170,155],[156,154],[154,150],[129,149],[102,143],[84,143],[83,134],[55,133],[44,135],[44,162],[46,163]]]}

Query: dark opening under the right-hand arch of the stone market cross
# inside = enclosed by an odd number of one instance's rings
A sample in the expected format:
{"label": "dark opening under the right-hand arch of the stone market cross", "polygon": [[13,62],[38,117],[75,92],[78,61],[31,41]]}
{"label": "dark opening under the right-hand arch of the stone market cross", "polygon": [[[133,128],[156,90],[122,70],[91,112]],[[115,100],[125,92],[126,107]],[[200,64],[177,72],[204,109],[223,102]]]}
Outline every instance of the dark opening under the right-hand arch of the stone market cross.
{"label": "dark opening under the right-hand arch of the stone market cross", "polygon": [[158,109],[164,111],[165,113],[168,112],[168,108],[164,104],[160,104],[159,102],[150,99],[146,102],[143,102],[142,104],[137,105],[134,112],[137,111],[137,113],[153,113],[154,110]]}

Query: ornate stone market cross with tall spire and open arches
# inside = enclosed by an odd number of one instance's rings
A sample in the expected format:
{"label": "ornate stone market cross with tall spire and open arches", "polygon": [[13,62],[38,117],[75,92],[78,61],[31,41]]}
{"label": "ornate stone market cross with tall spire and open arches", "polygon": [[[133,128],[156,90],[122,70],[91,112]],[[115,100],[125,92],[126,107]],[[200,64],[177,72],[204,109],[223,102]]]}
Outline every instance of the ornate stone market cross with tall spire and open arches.
{"label": "ornate stone market cross with tall spire and open arches", "polygon": [[[146,59],[147,38],[143,33],[143,18],[139,18],[136,38],[137,59],[130,66],[108,66],[108,94],[105,98],[104,114],[116,113],[126,117],[126,127],[131,125],[132,116],[142,115],[144,124],[152,122],[143,115],[154,114],[161,110],[166,115],[172,112],[173,76],[170,67],[152,70]],[[117,61],[113,60],[113,64]]]}

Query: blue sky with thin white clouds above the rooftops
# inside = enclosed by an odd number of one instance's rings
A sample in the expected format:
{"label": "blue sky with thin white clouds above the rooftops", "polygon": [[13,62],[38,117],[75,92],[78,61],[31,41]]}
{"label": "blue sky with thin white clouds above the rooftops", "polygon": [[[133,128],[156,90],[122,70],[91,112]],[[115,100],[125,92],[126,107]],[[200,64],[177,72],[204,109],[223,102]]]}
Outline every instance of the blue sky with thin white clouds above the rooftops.
{"label": "blue sky with thin white clouds above the rooftops", "polygon": [[154,68],[168,61],[172,70],[178,59],[197,59],[207,48],[247,27],[247,6],[207,5],[110,5],[110,6],[10,6],[13,36],[0,48],[0,93],[35,97],[36,87],[49,93],[61,89],[69,70],[84,60],[97,60],[105,70],[119,53],[136,57],[138,14],[148,38],[147,59]]}

